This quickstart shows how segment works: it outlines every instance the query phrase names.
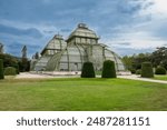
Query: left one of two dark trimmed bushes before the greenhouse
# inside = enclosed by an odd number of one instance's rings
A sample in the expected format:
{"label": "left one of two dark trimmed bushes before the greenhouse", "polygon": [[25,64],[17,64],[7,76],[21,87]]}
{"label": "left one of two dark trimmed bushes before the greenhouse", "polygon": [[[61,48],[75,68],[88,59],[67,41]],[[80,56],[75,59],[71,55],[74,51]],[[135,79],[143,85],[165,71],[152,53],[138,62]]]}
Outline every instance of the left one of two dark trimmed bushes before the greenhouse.
{"label": "left one of two dark trimmed bushes before the greenhouse", "polygon": [[95,70],[92,62],[85,62],[81,70],[81,78],[95,78]]}

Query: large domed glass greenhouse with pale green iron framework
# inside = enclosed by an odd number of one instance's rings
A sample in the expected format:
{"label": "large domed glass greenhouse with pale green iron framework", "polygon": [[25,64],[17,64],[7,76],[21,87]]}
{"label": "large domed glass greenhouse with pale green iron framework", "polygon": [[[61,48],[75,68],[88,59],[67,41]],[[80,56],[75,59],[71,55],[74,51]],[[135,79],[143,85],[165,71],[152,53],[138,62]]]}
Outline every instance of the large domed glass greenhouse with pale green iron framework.
{"label": "large domed glass greenhouse with pale green iron framework", "polygon": [[90,61],[98,71],[105,60],[112,60],[117,71],[124,71],[121,58],[98,40],[95,31],[79,23],[67,40],[56,34],[41,51],[41,57],[31,60],[31,70],[80,71],[84,62]]}

